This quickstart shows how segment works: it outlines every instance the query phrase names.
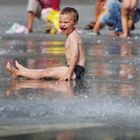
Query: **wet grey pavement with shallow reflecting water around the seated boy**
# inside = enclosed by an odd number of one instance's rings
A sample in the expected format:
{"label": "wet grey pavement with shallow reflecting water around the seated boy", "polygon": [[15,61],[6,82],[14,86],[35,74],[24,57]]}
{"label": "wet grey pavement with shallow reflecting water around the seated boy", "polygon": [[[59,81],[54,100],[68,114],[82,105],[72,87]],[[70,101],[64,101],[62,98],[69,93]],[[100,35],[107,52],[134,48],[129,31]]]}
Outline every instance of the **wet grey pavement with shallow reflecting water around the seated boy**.
{"label": "wet grey pavement with shallow reflecting water around the seated boy", "polygon": [[85,77],[77,83],[11,79],[7,61],[64,65],[65,37],[38,32],[39,21],[33,34],[7,35],[13,22],[25,25],[26,5],[0,5],[0,139],[140,139],[140,25],[128,39],[109,36],[107,28],[93,36],[83,30],[92,5],[75,6],[83,15],[78,29],[87,56]]}

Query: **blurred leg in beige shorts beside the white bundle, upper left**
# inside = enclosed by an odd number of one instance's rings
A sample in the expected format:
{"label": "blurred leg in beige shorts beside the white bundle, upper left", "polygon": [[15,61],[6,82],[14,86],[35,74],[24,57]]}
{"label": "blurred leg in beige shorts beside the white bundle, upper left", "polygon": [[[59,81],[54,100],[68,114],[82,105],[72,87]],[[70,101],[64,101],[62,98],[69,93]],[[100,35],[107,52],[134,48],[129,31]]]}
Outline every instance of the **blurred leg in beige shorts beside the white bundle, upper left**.
{"label": "blurred leg in beige shorts beside the white bundle, upper left", "polygon": [[28,32],[32,32],[35,17],[40,17],[41,6],[37,0],[29,0],[27,7],[27,28]]}

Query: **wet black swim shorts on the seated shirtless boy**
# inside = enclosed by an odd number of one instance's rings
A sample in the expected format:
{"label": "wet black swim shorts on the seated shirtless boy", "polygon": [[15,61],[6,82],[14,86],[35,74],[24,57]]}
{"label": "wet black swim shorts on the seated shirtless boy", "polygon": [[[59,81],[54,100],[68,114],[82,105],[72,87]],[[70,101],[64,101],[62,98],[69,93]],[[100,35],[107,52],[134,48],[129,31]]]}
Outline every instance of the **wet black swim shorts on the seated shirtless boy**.
{"label": "wet black swim shorts on the seated shirtless boy", "polygon": [[85,74],[85,68],[83,66],[76,65],[74,72],[76,74],[76,79],[81,79]]}

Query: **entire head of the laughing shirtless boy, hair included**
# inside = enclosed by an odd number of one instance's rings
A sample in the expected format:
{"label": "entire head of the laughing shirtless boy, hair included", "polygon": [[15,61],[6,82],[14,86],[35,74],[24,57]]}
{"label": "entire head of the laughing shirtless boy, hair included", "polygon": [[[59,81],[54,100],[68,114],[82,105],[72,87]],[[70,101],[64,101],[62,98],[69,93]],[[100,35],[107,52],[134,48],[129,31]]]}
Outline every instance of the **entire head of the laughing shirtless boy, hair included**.
{"label": "entire head of the laughing shirtless boy, hair included", "polygon": [[60,12],[60,29],[68,35],[75,29],[79,19],[79,14],[76,9],[72,7],[66,7]]}

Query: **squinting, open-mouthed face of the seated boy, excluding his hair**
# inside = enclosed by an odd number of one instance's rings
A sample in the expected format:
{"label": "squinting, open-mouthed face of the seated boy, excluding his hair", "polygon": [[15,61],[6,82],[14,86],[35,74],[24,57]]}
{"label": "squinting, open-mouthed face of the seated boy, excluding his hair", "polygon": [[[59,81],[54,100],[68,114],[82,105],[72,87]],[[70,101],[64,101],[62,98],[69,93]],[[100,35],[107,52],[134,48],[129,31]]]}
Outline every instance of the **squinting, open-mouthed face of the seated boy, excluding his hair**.
{"label": "squinting, open-mouthed face of the seated boy, excluding his hair", "polygon": [[76,24],[73,14],[60,14],[59,24],[62,33],[69,35],[74,30]]}

